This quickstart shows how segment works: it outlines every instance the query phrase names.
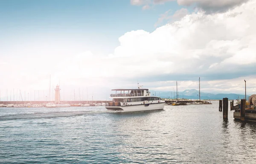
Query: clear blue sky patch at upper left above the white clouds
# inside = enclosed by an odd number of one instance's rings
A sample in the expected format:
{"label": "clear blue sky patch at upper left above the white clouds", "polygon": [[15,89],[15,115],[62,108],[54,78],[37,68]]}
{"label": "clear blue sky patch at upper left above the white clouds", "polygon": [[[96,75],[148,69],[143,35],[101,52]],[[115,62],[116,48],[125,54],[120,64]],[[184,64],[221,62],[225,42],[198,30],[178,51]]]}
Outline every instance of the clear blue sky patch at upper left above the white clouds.
{"label": "clear blue sky patch at upper left above the white clouds", "polygon": [[100,46],[102,53],[113,53],[125,32],[152,32],[160,14],[180,8],[176,2],[143,10],[129,0],[2,0],[0,35],[11,41],[51,35],[97,42],[88,49],[99,51]]}

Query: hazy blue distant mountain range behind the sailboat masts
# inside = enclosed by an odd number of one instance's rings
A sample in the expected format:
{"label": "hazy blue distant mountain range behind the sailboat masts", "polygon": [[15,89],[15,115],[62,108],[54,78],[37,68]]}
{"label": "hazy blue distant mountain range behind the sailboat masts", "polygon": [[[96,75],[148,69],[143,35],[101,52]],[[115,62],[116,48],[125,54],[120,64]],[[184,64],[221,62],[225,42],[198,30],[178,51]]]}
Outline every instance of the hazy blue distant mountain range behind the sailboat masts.
{"label": "hazy blue distant mountain range behind the sailboat masts", "polygon": [[[175,95],[173,92],[158,92],[160,93],[161,98],[176,98],[176,93]],[[159,96],[159,95],[157,95]],[[201,92],[201,100],[220,100],[222,98],[228,98],[230,100],[235,100],[239,97],[244,98],[244,95],[238,95],[238,94],[212,94],[212,93],[206,93],[206,92]],[[183,92],[178,93],[178,98],[186,98],[186,99],[199,99],[199,91],[196,89],[186,89]]]}

